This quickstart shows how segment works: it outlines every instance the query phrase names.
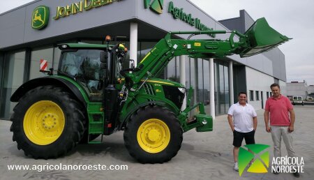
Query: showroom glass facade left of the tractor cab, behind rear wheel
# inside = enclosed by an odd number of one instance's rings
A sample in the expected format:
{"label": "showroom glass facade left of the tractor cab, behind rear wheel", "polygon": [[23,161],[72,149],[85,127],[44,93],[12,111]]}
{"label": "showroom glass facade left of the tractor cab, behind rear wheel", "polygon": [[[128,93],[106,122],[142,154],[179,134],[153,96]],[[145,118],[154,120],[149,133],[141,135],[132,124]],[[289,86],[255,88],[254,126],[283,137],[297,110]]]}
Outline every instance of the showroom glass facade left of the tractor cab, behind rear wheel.
{"label": "showroom glass facade left of the tractor cab, behind rear wheel", "polygon": [[20,52],[6,52],[4,55],[3,68],[0,70],[3,75],[0,87],[0,119],[10,119],[13,114],[13,107],[17,103],[11,103],[10,97],[24,83],[24,77],[28,81],[47,76],[47,74],[39,72],[40,59],[47,60],[47,70],[49,68],[57,70],[61,50],[52,46],[33,49],[31,50],[29,65],[25,54],[25,50],[21,50]]}

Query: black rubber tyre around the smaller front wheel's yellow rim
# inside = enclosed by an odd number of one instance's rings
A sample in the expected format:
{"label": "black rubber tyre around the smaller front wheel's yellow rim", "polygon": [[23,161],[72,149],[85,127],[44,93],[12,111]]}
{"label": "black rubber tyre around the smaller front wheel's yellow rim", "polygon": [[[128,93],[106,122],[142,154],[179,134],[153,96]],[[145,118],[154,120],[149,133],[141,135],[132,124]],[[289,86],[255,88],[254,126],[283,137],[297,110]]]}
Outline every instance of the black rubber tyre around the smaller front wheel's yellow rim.
{"label": "black rubber tyre around the smaller front wheel's yellow rim", "polygon": [[[151,153],[145,151],[137,140],[137,131],[148,119],[163,121],[170,130],[170,141],[162,151]],[[179,120],[165,107],[147,106],[140,108],[130,117],[124,130],[124,144],[130,156],[140,163],[165,163],[177,155],[182,143],[182,128]]]}

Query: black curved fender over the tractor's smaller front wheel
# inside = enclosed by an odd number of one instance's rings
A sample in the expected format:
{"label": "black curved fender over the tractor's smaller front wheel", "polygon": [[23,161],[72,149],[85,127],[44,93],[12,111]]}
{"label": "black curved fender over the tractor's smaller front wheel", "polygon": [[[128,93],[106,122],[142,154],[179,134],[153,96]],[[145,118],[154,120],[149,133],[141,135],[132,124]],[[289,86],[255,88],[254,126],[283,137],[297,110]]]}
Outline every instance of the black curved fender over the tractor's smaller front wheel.
{"label": "black curved fender over the tractor's smaller front wheel", "polygon": [[148,101],[146,103],[142,103],[140,105],[133,107],[132,110],[128,110],[128,114],[126,116],[122,117],[122,119],[120,119],[121,123],[119,125],[119,130],[121,130],[126,125],[126,121],[128,121],[128,119],[130,119],[130,117],[132,116],[132,114],[134,112],[136,112],[138,109],[145,107],[147,105],[158,105],[160,107],[166,107],[171,112],[174,112],[174,114],[176,114],[176,116],[178,116],[180,113],[180,110],[178,111],[178,109],[176,107],[174,107],[173,105],[170,105],[168,103],[165,103],[163,101]]}

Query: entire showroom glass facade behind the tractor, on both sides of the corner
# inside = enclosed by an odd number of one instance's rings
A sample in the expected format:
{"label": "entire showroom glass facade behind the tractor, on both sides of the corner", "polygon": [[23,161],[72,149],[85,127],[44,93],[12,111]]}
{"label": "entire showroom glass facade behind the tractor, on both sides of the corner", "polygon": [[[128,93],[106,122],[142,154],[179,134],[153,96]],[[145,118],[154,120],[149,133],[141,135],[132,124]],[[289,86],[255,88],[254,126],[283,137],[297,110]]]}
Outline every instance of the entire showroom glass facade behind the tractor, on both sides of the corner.
{"label": "entire showroom glass facade behind the tractor, on both sides of the corner", "polygon": [[[103,40],[81,40],[82,43],[96,43],[103,44]],[[117,43],[115,41],[110,44]],[[128,49],[130,43],[128,41],[119,43],[124,44]],[[151,50],[157,42],[139,42],[137,44],[137,63]],[[45,76],[44,73],[39,72],[40,59],[48,61],[49,68],[57,70],[61,50],[56,46],[40,47],[31,50],[29,65],[25,63],[25,51],[21,52],[6,52],[4,55],[3,63],[3,78],[1,86],[1,108],[0,118],[9,119],[10,114],[13,112],[15,103],[10,103],[10,96],[15,90],[23,84],[25,80],[32,80],[37,77]],[[126,59],[129,59],[127,55]],[[202,102],[204,103],[205,112],[210,114],[209,107],[209,61],[205,59],[193,59],[186,57],[186,86],[187,93],[190,86],[193,87],[193,96],[191,98],[191,105]],[[124,67],[126,68],[126,67]],[[215,105],[216,114],[226,114],[230,107],[229,100],[229,80],[228,80],[228,64],[224,61],[214,61],[214,74],[215,74]],[[172,80],[175,82],[180,81],[180,68],[179,57],[174,57],[159,75],[160,78]],[[193,112],[194,113],[194,112]]]}

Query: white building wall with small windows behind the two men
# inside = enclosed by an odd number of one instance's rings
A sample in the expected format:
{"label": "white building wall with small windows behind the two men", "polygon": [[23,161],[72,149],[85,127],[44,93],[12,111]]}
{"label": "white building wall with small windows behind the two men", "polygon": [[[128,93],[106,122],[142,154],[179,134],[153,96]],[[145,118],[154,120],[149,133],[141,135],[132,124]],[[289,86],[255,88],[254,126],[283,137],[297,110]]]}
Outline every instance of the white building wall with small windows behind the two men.
{"label": "white building wall with small windows behind the two men", "polygon": [[[246,66],[246,93],[248,93],[248,103],[253,105],[255,110],[262,109],[262,95],[263,93],[263,108],[267,100],[267,92],[271,92],[270,85],[274,83],[274,77],[261,73]],[[253,91],[254,100],[250,100],[250,91]],[[256,100],[256,91],[259,91],[260,100]]]}

